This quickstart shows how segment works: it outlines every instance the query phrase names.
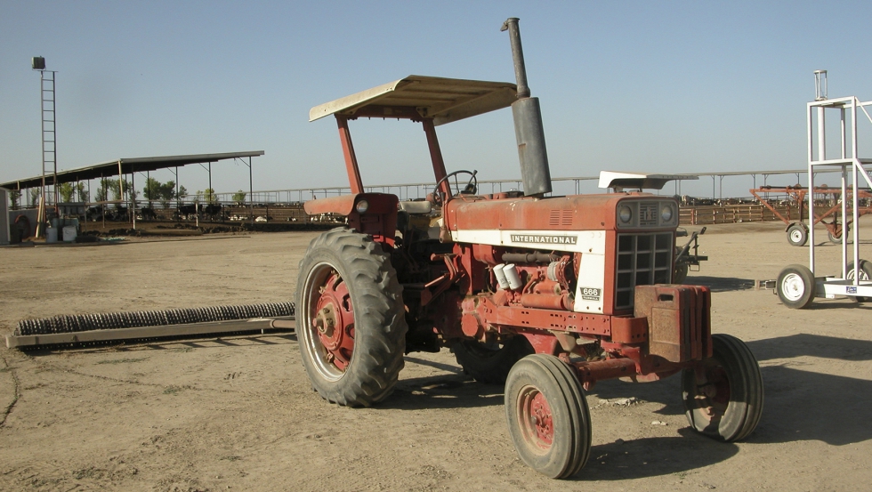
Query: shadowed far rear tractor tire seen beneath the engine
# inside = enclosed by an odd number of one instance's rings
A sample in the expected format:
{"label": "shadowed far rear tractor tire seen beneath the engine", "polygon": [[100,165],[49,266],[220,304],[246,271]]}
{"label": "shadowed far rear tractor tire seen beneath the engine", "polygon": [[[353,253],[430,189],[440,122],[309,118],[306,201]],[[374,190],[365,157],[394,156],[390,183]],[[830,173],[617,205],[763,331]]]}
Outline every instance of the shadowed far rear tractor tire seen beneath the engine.
{"label": "shadowed far rear tractor tire seen beneath the engine", "polygon": [[499,348],[485,343],[463,340],[452,348],[457,363],[472,379],[485,384],[503,384],[515,362],[533,353],[533,346],[524,335],[509,338]]}

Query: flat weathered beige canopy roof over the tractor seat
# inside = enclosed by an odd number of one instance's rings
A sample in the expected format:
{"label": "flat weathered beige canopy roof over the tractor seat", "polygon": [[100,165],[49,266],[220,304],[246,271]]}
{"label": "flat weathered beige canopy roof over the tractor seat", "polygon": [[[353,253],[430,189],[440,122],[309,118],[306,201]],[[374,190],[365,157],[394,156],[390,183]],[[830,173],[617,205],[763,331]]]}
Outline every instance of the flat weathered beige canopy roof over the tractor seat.
{"label": "flat weathered beige canopy roof over the tractor seat", "polygon": [[410,75],[388,84],[316,106],[309,121],[329,115],[355,117],[433,118],[444,125],[517,101],[517,87],[508,82]]}

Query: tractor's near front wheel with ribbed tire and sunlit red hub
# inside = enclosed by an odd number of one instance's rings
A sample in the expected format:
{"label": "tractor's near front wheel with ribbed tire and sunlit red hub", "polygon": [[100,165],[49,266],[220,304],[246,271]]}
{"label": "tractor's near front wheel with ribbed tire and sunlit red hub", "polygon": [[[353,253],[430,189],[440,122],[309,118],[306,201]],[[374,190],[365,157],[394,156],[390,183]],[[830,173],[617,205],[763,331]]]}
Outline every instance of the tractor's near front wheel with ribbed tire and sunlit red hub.
{"label": "tractor's near front wheel with ribbed tire and sunlit red hub", "polygon": [[591,417],[572,369],[551,355],[518,361],[505,382],[505,415],[521,461],[553,479],[577,473],[590,455]]}

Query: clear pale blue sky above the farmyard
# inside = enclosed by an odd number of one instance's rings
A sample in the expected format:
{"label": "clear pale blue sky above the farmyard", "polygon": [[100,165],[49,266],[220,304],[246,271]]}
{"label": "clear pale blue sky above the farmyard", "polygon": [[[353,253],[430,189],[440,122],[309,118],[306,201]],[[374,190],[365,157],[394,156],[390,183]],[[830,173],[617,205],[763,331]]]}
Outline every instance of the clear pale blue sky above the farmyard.
{"label": "clear pale blue sky above the farmyard", "polygon": [[[828,69],[830,96],[872,99],[870,14],[868,0],[0,0],[0,181],[41,173],[30,58],[44,56],[61,170],[262,149],[254,190],[346,185],[335,122],[309,109],[410,74],[514,82],[507,17],[521,18],[553,176],[803,168],[812,71]],[[449,171],[520,176],[508,109],[438,130]],[[432,180],[419,125],[351,134],[364,184]],[[246,166],[213,170],[218,192],[247,189]],[[180,170],[189,191],[206,176]]]}

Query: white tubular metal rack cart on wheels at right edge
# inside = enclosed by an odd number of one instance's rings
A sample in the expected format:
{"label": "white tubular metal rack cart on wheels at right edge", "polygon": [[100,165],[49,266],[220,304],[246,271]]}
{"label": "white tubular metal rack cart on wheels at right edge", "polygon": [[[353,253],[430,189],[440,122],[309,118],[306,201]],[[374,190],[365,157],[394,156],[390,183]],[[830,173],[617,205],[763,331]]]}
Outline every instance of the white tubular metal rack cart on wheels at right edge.
{"label": "white tubular metal rack cart on wheels at right edge", "polygon": [[[814,190],[814,172],[820,168],[840,167],[842,171],[842,216],[848,217],[848,202],[851,202],[852,251],[848,252],[848,234],[842,234],[842,271],[840,276],[820,277],[814,274],[815,240],[814,228],[809,228],[809,268],[803,265],[789,265],[779,273],[775,290],[781,302],[788,308],[802,309],[808,307],[815,297],[835,298],[844,295],[856,298],[859,302],[872,300],[872,262],[860,259],[860,225],[858,188],[860,179],[872,188],[872,179],[866,171],[866,165],[872,165],[872,158],[859,156],[857,141],[858,111],[872,122],[867,107],[872,101],[860,101],[855,96],[828,99],[827,70],[814,72],[815,101],[809,102],[806,108],[806,123],[808,132],[808,175],[809,190]],[[841,126],[840,157],[828,158],[827,155],[827,111],[838,111]],[[813,125],[812,125],[813,124]],[[817,142],[815,142],[817,140]],[[815,152],[816,151],[816,152]],[[816,155],[815,155],[816,154]],[[808,194],[809,210],[814,210],[814,193]],[[847,221],[845,221],[847,223]]]}

